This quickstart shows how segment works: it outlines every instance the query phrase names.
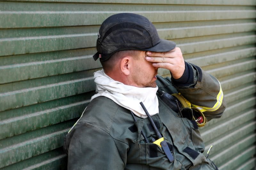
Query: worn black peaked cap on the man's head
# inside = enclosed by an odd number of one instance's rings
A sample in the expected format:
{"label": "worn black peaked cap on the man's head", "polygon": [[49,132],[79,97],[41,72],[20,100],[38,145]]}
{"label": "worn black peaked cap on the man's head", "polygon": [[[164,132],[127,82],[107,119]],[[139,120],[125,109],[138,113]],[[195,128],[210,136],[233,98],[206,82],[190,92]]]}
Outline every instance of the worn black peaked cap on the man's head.
{"label": "worn black peaked cap on the man's head", "polygon": [[156,27],[144,16],[134,13],[119,13],[108,17],[100,27],[96,43],[96,61],[108,60],[115,52],[141,50],[166,52],[174,49],[172,41],[159,38]]}

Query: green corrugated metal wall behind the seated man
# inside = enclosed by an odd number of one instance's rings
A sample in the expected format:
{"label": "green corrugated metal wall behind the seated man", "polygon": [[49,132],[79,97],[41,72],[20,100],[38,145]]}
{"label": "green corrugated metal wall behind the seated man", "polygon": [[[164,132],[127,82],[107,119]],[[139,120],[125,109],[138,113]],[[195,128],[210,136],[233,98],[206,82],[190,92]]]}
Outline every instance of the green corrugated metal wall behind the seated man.
{"label": "green corrugated metal wall behind the seated man", "polygon": [[[108,2],[108,3],[107,3]],[[110,3],[111,2],[111,3]],[[220,169],[254,169],[255,0],[0,1],[0,169],[59,169],[63,137],[94,93],[100,24],[148,17],[188,62],[216,76],[228,108],[202,128]],[[162,75],[168,71],[159,70]]]}

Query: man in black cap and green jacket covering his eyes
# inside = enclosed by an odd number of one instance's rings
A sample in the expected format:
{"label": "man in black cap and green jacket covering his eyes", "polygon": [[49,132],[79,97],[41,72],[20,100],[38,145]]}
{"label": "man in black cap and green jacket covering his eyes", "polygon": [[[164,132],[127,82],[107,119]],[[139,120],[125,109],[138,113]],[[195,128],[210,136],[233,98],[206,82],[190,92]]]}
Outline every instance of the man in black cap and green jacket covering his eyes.
{"label": "man in black cap and green jacket covering his eyes", "polygon": [[[94,73],[97,93],[66,136],[68,169],[217,169],[202,154],[196,121],[202,112],[204,121],[222,115],[220,83],[185,62],[175,46],[137,14],[115,14],[102,23],[93,58],[103,70]],[[157,75],[158,68],[172,78]],[[168,104],[175,107],[174,101],[162,98],[167,93],[176,94],[176,110]],[[194,110],[182,107],[179,97]]]}

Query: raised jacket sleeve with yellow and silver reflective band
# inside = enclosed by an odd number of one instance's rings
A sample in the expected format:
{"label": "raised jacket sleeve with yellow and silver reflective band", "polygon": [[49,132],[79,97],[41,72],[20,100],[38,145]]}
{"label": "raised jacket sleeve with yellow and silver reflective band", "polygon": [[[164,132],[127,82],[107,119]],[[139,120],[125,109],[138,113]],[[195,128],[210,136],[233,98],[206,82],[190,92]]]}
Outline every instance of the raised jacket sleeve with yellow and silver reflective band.
{"label": "raised jacket sleeve with yellow and silver reflective band", "polygon": [[184,84],[172,79],[172,84],[193,107],[204,112],[208,121],[220,118],[226,108],[220,82],[198,66],[186,63],[186,67],[189,68],[187,77],[190,82]]}

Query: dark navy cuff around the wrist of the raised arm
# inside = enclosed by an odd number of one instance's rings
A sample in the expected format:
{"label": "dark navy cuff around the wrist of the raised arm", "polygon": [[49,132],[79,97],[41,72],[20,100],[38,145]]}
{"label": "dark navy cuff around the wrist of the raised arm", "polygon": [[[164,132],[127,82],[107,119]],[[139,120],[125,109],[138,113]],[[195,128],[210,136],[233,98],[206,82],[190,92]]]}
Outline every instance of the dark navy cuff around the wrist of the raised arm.
{"label": "dark navy cuff around the wrist of the raised arm", "polygon": [[[171,73],[172,74],[172,73]],[[176,87],[184,87],[193,84],[194,73],[192,66],[185,61],[185,71],[179,79],[172,78],[172,84]]]}

